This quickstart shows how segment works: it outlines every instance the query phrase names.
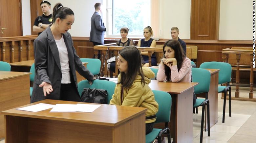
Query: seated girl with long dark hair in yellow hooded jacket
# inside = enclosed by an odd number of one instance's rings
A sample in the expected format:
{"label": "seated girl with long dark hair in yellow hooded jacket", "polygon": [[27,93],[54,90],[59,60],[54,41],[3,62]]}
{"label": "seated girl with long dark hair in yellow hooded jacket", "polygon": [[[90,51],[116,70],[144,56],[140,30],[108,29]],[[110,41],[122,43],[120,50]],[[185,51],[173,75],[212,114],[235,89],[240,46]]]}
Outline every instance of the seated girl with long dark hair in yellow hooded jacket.
{"label": "seated girl with long dark hair in yellow hooded jacket", "polygon": [[154,78],[155,74],[149,68],[141,66],[141,59],[135,46],[125,47],[119,52],[117,67],[120,74],[110,104],[147,108],[145,123],[148,134],[156,121],[158,103],[148,86],[150,78]]}

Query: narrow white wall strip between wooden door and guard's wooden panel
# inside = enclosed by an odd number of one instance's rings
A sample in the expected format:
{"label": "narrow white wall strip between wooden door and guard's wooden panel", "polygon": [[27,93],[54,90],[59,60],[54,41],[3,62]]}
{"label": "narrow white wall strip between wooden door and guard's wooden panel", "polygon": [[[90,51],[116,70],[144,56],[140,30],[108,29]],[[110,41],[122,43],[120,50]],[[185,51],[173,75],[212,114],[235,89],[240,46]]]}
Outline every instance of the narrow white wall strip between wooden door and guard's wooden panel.
{"label": "narrow white wall strip between wooden door and guard's wooden panel", "polygon": [[31,35],[30,0],[21,0],[23,36]]}

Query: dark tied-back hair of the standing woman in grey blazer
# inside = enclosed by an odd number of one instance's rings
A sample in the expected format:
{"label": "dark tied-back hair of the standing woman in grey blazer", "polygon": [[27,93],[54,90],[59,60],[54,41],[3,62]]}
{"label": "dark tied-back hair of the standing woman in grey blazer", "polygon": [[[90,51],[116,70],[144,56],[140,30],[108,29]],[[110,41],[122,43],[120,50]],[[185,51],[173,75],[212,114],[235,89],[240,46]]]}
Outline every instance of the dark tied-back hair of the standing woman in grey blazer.
{"label": "dark tied-back hair of the standing woman in grey blazer", "polygon": [[56,3],[53,7],[53,23],[57,18],[65,19],[67,15],[74,15],[74,12],[67,7],[63,7],[61,3]]}

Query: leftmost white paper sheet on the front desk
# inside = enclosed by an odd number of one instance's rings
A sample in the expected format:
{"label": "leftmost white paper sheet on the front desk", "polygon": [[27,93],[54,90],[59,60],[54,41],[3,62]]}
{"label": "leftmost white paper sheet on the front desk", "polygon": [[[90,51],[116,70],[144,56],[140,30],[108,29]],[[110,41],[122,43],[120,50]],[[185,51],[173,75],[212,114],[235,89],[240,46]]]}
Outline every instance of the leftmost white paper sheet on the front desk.
{"label": "leftmost white paper sheet on the front desk", "polygon": [[38,104],[35,104],[35,105],[18,108],[16,110],[38,112],[38,111],[43,111],[43,110],[46,110],[46,109],[53,108],[54,106],[55,105],[52,105],[52,104],[38,103]]}

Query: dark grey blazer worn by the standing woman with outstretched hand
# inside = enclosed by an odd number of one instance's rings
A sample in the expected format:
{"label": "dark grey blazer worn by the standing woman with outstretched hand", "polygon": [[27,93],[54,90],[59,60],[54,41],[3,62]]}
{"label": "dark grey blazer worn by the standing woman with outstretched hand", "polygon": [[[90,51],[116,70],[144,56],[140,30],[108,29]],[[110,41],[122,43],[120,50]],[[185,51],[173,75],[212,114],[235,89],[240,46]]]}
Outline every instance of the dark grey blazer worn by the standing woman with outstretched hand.
{"label": "dark grey blazer worn by the standing woman with outstretched hand", "polygon": [[[92,81],[93,74],[83,66],[80,58],[76,55],[70,33],[66,32],[62,36],[68,50],[71,80],[74,79],[77,87],[76,70],[88,81]],[[31,103],[44,99],[59,100],[62,74],[59,52],[50,26],[34,40],[34,56],[35,77]],[[53,91],[47,96],[44,96],[43,88],[38,87],[42,82],[50,83],[53,87]]]}

